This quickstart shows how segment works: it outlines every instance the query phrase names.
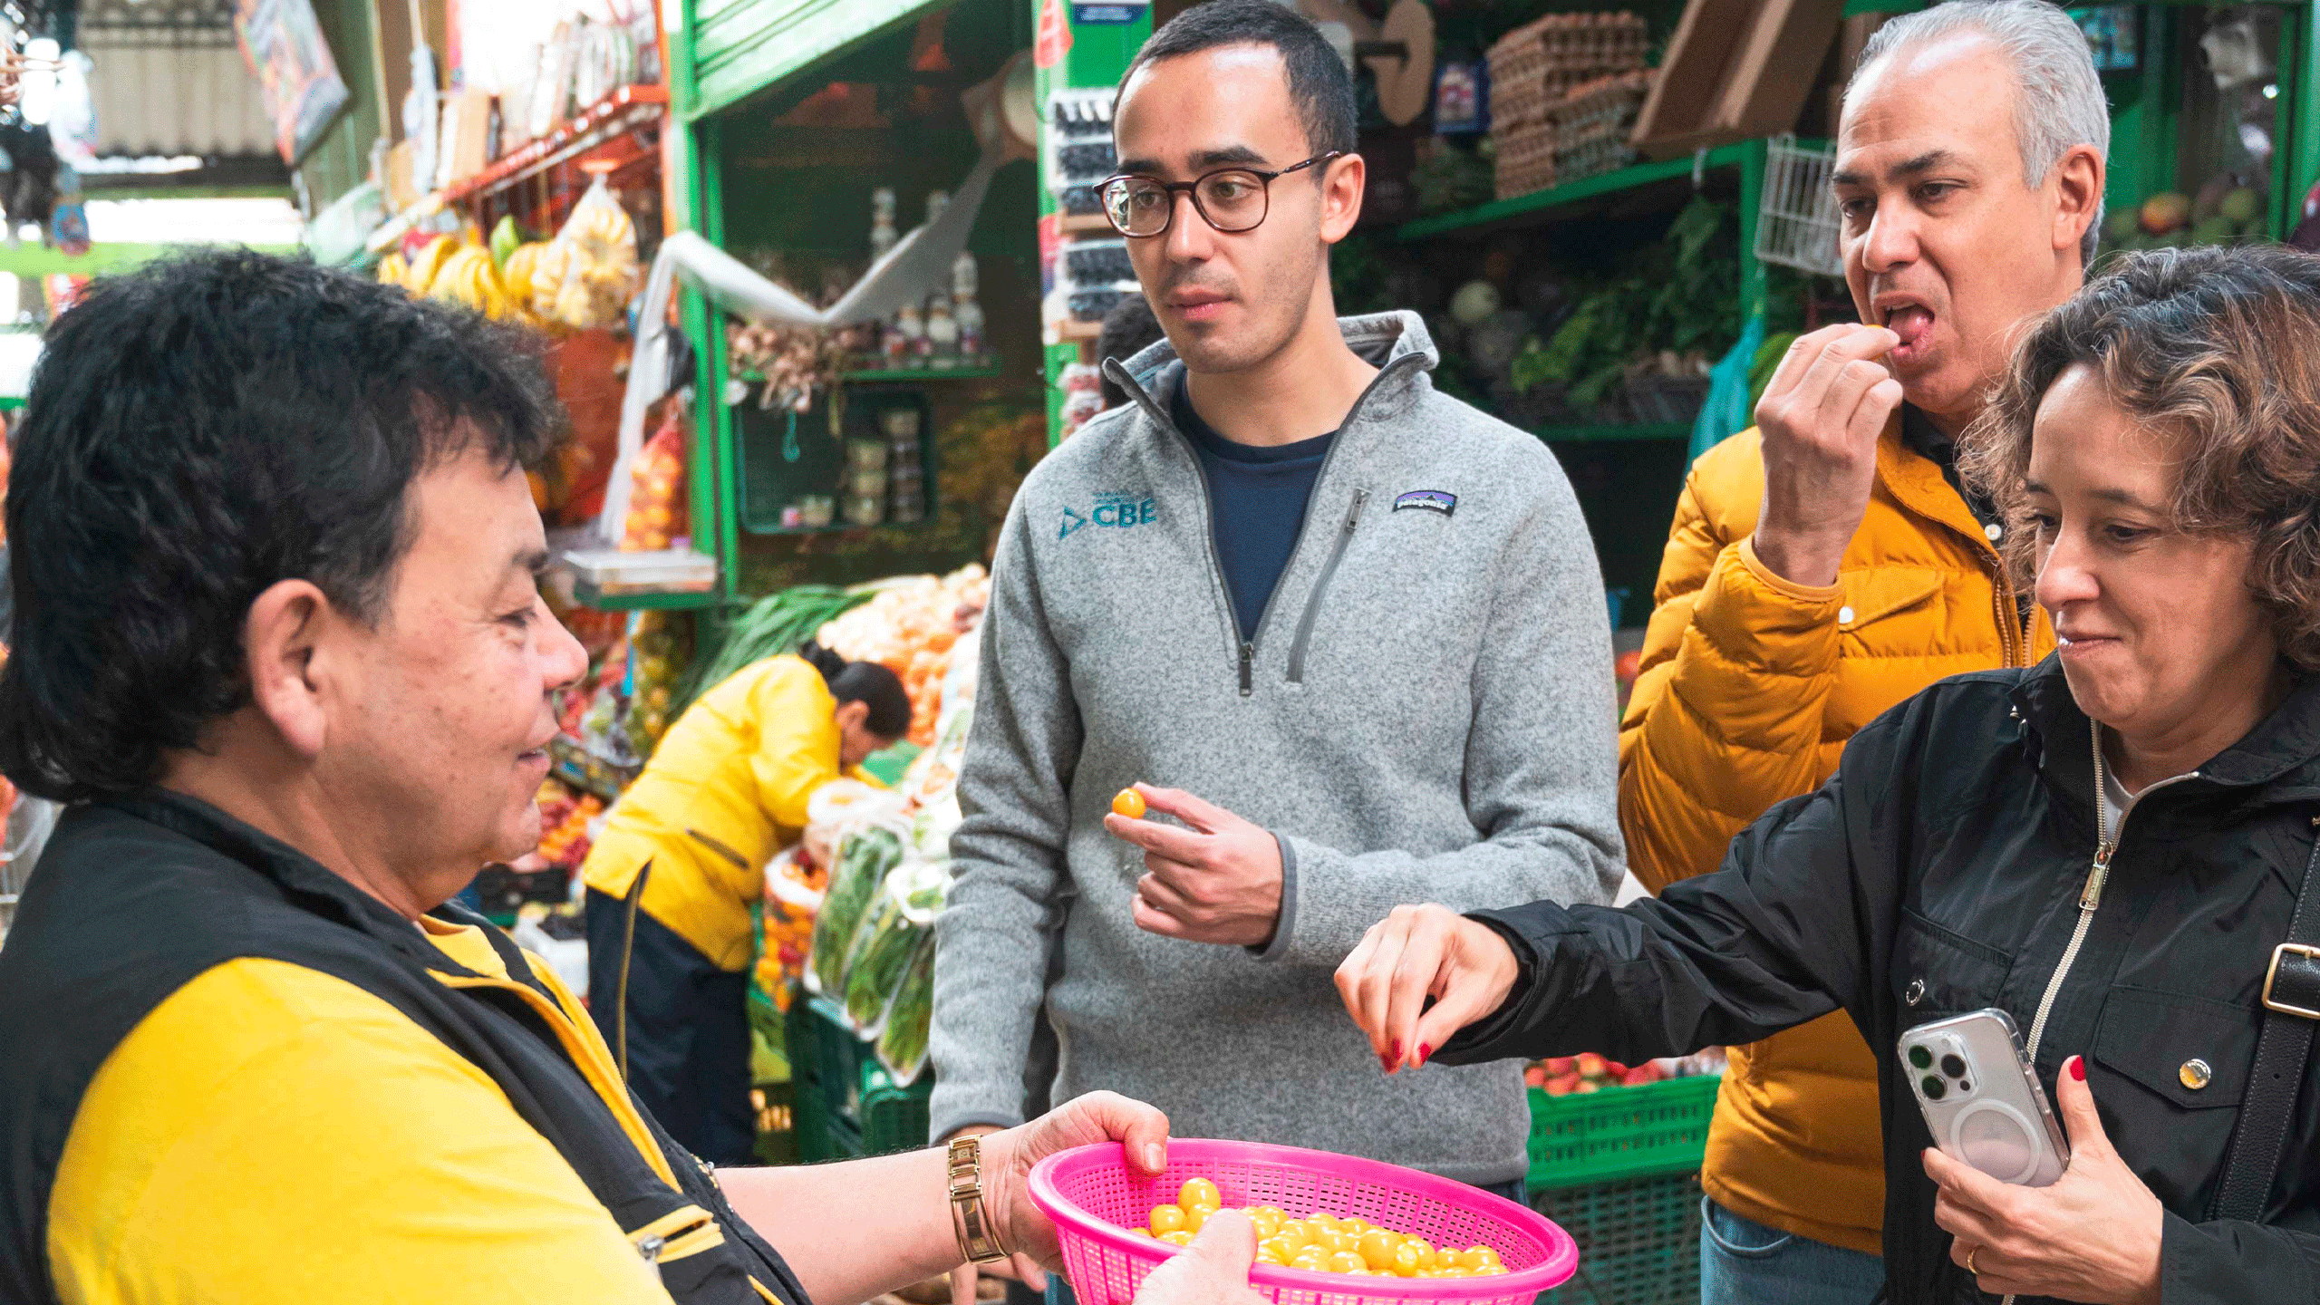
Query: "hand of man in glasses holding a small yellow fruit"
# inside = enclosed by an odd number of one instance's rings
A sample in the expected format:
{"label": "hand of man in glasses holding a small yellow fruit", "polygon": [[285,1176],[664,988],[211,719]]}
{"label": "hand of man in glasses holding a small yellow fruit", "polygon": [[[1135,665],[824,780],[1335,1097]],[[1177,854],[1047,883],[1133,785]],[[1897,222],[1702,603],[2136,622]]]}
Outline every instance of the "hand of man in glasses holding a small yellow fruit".
{"label": "hand of man in glasses holding a small yellow fruit", "polygon": [[[1148,820],[1174,815],[1186,824]],[[1137,785],[1111,799],[1104,831],[1144,848],[1137,927],[1186,943],[1262,947],[1281,924],[1281,843],[1181,790]]]}

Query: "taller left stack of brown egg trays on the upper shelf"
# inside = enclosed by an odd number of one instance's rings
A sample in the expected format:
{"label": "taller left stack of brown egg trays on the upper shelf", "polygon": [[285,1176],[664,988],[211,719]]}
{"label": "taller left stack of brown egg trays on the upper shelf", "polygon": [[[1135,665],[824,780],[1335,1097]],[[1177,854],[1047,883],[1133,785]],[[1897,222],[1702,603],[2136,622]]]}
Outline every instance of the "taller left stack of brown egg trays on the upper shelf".
{"label": "taller left stack of brown egg trays on the upper shelf", "polygon": [[1561,144],[1550,114],[1592,81],[1640,70],[1645,37],[1645,21],[1629,12],[1547,14],[1489,46],[1489,135],[1501,200],[1571,181],[1557,170]]}

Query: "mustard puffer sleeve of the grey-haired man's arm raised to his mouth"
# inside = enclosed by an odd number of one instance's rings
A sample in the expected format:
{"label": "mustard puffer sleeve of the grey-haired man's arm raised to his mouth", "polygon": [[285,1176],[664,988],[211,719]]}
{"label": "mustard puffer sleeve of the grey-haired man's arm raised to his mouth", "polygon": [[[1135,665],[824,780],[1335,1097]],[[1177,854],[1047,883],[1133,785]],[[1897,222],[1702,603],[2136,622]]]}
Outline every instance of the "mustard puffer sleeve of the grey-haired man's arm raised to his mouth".
{"label": "mustard puffer sleeve of the grey-haired man's arm raised to his mouth", "polygon": [[1759,457],[1733,437],[1687,476],[1619,722],[1619,831],[1652,892],[1717,868],[1740,829],[1819,783],[1842,599],[1756,560]]}

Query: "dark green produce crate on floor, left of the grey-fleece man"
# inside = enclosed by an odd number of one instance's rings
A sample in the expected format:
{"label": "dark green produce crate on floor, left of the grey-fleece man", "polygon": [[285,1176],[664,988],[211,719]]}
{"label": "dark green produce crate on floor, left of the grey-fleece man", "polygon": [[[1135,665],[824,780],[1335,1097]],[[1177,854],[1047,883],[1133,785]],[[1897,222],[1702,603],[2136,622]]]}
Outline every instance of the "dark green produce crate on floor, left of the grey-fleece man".
{"label": "dark green produce crate on floor, left of the grey-fleece man", "polygon": [[789,1003],[789,1077],[803,1163],[926,1145],[926,1101],[935,1094],[935,1077],[921,1073],[919,1082],[896,1087],[847,1017],[803,992]]}

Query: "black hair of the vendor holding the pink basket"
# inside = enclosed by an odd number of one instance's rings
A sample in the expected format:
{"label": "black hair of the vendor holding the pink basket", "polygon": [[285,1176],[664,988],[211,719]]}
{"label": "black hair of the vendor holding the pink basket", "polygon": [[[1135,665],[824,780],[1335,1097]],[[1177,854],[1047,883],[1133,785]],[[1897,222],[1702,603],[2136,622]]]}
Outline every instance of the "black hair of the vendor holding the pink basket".
{"label": "black hair of the vendor holding the pink basket", "polygon": [[7,495],[0,771],[146,787],[251,699],[241,622],[288,578],[357,620],[411,548],[408,490],[557,437],[534,337],[246,248],[97,279],[46,337]]}

